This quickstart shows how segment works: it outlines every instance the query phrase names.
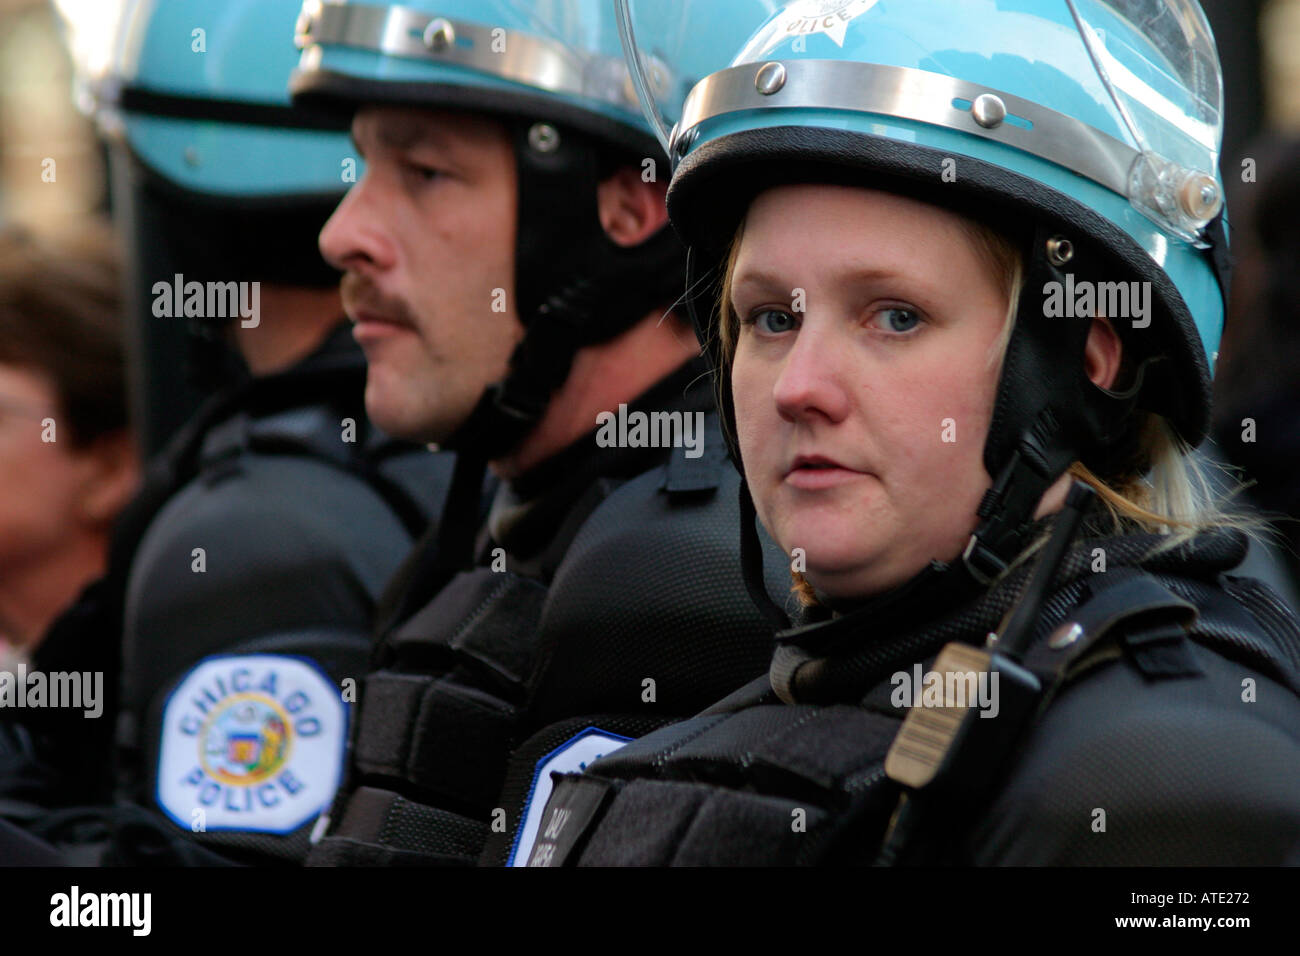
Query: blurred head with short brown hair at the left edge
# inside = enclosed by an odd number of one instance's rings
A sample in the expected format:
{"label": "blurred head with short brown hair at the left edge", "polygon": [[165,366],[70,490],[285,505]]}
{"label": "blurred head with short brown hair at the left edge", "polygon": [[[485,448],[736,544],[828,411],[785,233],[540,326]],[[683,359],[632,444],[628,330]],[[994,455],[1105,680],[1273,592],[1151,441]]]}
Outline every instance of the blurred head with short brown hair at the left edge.
{"label": "blurred head with short brown hair at the left edge", "polygon": [[0,233],[0,670],[99,578],[138,481],[107,226]]}

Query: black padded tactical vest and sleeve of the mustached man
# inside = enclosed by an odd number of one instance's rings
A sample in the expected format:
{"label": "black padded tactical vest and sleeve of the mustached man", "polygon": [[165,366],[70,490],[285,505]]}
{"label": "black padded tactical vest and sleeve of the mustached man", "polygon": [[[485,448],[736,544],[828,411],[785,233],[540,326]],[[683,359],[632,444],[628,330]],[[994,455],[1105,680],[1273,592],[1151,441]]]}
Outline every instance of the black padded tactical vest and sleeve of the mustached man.
{"label": "black padded tactical vest and sleeve of the mustached man", "polygon": [[[577,476],[549,533],[486,541],[481,566],[387,633],[309,864],[472,865],[489,842],[508,853],[540,761],[640,736],[763,671],[770,631],[734,544],[738,477],[707,388],[682,398],[694,378],[689,365],[629,411],[701,415],[699,454],[588,436],[547,464]],[[784,567],[774,555],[776,593]]]}

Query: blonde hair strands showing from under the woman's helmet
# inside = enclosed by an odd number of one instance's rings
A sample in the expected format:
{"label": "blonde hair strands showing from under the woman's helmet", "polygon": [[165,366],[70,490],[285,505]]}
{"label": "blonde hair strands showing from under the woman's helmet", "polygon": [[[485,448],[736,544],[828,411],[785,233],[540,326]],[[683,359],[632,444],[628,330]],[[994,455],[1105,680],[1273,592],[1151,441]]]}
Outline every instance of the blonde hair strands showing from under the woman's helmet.
{"label": "blonde hair strands showing from under the woman's helmet", "polygon": [[[1019,248],[1011,239],[983,222],[965,216],[959,219],[979,255],[992,267],[992,274],[1000,282],[1000,291],[1006,295],[1006,320],[989,349],[988,360],[989,367],[996,367],[996,373],[1000,376],[1008,346],[1011,342],[1017,304],[1024,285],[1024,263]],[[744,235],[745,221],[742,220],[727,256],[722,295],[718,303],[719,321],[714,334],[719,337],[718,351],[722,356],[718,375],[720,399],[724,398],[723,390],[731,388],[731,365],[740,337],[740,320],[731,303],[732,278]],[[1089,485],[1097,493],[1117,535],[1140,532],[1161,535],[1162,541],[1150,551],[1150,554],[1158,554],[1213,528],[1235,528],[1254,538],[1262,538],[1269,533],[1268,522],[1262,518],[1228,509],[1230,501],[1243,490],[1243,485],[1235,479],[1230,479],[1226,470],[1223,470],[1223,483],[1228,485],[1230,490],[1221,494],[1214,490],[1214,483],[1209,475],[1209,468],[1216,466],[1197,459],[1162,415],[1148,411],[1136,414],[1139,416],[1136,423],[1138,451],[1134,459],[1121,467],[1117,475],[1098,476],[1083,462],[1074,462],[1066,470],[1066,473]],[[724,423],[724,427],[731,428],[731,423]],[[1008,570],[1032,555],[1045,538],[1046,536],[1043,535],[1027,545]],[[793,578],[792,592],[800,604],[805,606],[820,604],[812,585],[801,572],[792,571],[790,576]]]}

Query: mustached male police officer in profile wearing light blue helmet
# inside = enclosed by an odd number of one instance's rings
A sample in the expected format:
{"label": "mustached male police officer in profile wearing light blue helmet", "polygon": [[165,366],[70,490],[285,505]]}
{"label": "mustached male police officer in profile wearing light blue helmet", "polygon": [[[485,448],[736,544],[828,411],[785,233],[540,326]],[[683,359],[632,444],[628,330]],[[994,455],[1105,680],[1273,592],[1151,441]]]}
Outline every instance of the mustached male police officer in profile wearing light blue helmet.
{"label": "mustached male police officer in profile wearing light blue helmet", "polygon": [[[667,160],[595,0],[308,3],[299,42],[295,103],[338,109],[367,160],[321,234],[367,407],[458,453],[441,527],[381,611],[309,862],[473,864],[489,840],[504,860],[551,769],[767,657],[734,473],[670,311]],[[504,481],[481,524],[489,462]]]}

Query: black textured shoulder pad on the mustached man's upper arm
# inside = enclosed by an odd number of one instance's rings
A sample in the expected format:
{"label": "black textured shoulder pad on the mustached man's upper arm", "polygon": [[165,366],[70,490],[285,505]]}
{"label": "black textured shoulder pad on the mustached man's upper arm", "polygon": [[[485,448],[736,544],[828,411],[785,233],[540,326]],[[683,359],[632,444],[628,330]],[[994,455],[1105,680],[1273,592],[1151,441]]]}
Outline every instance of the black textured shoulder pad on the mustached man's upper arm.
{"label": "black textured shoulder pad on the mustached man's upper arm", "polygon": [[[573,538],[542,613],[537,722],[688,715],[767,670],[772,632],[740,566],[738,476],[673,494],[663,467],[611,494]],[[768,587],[789,564],[767,546]],[[777,598],[780,600],[780,598]]]}

